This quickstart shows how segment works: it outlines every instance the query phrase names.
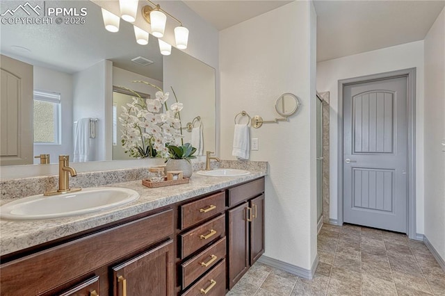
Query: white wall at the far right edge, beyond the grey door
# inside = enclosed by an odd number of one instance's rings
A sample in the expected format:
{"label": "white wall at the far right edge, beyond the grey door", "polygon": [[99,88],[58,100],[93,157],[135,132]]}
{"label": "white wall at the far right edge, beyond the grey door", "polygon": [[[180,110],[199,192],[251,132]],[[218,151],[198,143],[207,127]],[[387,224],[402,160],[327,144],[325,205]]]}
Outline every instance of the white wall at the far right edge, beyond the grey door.
{"label": "white wall at the far right edge, beyond the grey door", "polygon": [[445,260],[445,9],[425,46],[425,235]]}

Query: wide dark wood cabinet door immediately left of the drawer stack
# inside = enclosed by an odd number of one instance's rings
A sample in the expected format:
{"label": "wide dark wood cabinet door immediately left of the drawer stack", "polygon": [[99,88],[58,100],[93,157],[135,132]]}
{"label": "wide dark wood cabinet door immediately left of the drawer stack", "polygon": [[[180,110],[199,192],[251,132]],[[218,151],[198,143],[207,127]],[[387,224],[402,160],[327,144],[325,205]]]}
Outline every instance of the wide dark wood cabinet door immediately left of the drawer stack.
{"label": "wide dark wood cabinet door immediately left of the drawer stack", "polygon": [[173,295],[175,263],[173,240],[113,268],[113,295]]}

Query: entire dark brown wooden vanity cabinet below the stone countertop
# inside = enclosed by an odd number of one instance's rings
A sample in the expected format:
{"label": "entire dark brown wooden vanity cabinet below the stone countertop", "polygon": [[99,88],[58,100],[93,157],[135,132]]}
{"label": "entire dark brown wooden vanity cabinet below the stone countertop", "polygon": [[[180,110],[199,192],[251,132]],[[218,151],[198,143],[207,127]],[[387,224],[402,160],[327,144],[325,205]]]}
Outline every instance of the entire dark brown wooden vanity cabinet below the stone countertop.
{"label": "entire dark brown wooden vanity cabinet below the stone countertop", "polygon": [[224,295],[264,253],[264,178],[49,244],[1,258],[0,296]]}

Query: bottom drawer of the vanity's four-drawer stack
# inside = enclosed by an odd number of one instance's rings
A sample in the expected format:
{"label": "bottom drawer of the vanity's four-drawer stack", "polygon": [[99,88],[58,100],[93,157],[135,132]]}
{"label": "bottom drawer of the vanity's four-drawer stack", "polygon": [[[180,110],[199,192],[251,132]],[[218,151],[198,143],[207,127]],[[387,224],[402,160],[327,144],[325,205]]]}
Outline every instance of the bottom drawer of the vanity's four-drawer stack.
{"label": "bottom drawer of the vanity's four-drawer stack", "polygon": [[225,259],[195,283],[182,296],[225,295]]}

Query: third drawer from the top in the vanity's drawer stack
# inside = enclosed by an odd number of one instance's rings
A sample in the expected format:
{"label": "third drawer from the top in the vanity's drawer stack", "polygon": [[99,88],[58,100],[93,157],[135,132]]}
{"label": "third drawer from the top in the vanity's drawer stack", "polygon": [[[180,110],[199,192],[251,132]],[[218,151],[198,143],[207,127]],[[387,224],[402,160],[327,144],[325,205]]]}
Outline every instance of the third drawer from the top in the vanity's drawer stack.
{"label": "third drawer from the top in the vanity's drawer stack", "polygon": [[221,238],[211,247],[181,264],[182,288],[210,270],[221,258],[225,258],[226,240]]}

